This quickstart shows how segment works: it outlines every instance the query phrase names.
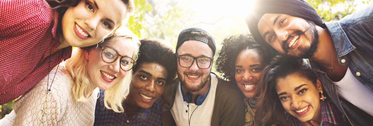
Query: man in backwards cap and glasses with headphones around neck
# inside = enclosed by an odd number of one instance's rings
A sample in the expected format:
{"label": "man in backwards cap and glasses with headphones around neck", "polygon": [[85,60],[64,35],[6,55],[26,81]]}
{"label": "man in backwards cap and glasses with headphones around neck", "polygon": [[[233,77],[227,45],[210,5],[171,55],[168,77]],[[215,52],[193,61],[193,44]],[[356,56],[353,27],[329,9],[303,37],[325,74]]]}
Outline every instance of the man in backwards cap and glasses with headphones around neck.
{"label": "man in backwards cap and glasses with headphones around neck", "polygon": [[239,89],[211,72],[215,50],[214,39],[205,30],[187,28],[180,32],[176,44],[178,78],[175,84],[166,85],[162,94],[163,125],[244,124]]}

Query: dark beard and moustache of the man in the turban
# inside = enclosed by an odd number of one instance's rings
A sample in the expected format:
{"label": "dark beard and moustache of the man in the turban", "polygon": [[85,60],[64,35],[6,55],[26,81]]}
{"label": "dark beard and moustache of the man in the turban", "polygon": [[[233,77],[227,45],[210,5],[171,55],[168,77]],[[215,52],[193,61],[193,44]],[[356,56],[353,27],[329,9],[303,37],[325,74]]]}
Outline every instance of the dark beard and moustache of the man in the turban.
{"label": "dark beard and moustache of the man in the turban", "polygon": [[310,35],[311,35],[311,39],[310,39],[311,44],[310,44],[309,47],[299,46],[298,50],[301,53],[299,54],[299,56],[294,56],[294,57],[297,57],[297,58],[310,58],[316,52],[317,45],[319,44],[319,33],[317,32],[315,23],[313,23],[311,21],[307,21],[307,23],[310,25],[307,29],[305,29],[304,31],[300,31],[300,30],[294,31],[293,33],[291,33],[289,35],[289,37],[288,37],[287,40],[282,41],[282,49],[285,51],[285,54],[288,54],[288,52],[289,52],[287,41],[290,38],[294,37],[295,35],[304,35],[305,36],[306,32],[310,32]]}

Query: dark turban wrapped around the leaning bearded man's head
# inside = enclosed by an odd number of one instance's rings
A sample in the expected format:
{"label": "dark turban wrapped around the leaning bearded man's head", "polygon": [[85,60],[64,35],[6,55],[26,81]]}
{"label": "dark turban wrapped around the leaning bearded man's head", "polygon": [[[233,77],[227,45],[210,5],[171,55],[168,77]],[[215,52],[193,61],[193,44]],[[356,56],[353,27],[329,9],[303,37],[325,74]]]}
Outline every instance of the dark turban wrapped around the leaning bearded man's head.
{"label": "dark turban wrapped around the leaning bearded man's head", "polygon": [[266,13],[282,13],[303,18],[315,23],[315,25],[325,28],[316,10],[304,0],[257,0],[254,7],[251,15],[246,18],[246,24],[255,41],[266,48],[273,49],[263,40],[258,30],[258,22]]}

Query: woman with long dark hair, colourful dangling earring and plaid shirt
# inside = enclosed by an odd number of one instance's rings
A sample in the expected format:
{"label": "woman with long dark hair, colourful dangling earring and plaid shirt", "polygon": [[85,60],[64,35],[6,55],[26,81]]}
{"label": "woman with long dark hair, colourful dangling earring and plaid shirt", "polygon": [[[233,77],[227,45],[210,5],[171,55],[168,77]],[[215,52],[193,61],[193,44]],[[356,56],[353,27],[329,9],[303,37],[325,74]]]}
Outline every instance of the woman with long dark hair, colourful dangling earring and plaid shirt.
{"label": "woman with long dark hair, colourful dangling earring and plaid shirt", "polygon": [[260,126],[348,126],[303,59],[276,56],[264,69],[255,119]]}

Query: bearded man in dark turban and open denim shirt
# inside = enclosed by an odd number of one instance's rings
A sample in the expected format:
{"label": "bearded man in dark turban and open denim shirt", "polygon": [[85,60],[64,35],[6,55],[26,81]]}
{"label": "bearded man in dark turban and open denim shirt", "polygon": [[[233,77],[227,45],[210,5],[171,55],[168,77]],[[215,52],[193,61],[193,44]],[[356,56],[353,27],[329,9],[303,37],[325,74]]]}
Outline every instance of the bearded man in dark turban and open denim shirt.
{"label": "bearded man in dark turban and open denim shirt", "polygon": [[373,116],[373,6],[325,23],[303,0],[258,0],[254,7],[247,18],[254,39],[281,54],[308,58],[351,125],[368,125]]}

